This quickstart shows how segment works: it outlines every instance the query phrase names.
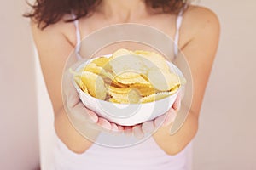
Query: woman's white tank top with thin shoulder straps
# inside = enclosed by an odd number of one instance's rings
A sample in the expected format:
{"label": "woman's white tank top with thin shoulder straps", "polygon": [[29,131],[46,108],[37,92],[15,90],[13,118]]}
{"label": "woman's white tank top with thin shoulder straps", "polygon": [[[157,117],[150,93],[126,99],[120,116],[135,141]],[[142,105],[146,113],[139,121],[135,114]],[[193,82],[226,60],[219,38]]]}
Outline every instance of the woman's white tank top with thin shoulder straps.
{"label": "woman's white tank top with thin shoulder straps", "polygon": [[[179,30],[182,24],[182,11],[177,15],[174,54],[178,53]],[[76,52],[79,55],[79,21],[75,20],[77,36]],[[167,155],[152,137],[125,148],[109,148],[92,144],[83,154],[68,150],[67,146],[55,135],[55,170],[190,170],[191,143],[175,156]]]}

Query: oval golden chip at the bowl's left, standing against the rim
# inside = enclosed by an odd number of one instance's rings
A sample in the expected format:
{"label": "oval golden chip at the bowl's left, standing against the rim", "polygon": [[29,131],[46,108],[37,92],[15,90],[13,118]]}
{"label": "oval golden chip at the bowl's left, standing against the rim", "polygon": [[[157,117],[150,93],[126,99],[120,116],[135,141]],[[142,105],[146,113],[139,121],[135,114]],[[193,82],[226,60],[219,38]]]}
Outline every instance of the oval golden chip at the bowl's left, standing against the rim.
{"label": "oval golden chip at the bowl's left, standing against the rim", "polygon": [[107,89],[102,77],[89,71],[83,71],[81,80],[88,89],[89,94],[97,99],[106,99]]}

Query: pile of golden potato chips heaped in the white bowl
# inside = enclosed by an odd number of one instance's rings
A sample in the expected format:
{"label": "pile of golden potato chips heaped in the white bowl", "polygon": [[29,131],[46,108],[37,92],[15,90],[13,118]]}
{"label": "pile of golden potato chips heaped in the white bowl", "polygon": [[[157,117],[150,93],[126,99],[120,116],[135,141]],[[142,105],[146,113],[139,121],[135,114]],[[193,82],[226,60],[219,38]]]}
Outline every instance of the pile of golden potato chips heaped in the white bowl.
{"label": "pile of golden potato chips heaped in the white bowl", "polygon": [[121,48],[110,57],[91,59],[75,73],[84,93],[113,103],[137,104],[166,98],[185,82],[160,54]]}

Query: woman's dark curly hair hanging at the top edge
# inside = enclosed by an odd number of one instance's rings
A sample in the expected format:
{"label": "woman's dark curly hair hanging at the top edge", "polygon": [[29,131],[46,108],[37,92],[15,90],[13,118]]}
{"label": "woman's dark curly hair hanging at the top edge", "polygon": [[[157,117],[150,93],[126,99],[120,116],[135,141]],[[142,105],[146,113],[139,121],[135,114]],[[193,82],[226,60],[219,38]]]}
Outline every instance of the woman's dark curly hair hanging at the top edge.
{"label": "woman's dark curly hair hanging at the top edge", "polygon": [[[35,4],[29,4],[32,12],[24,14],[38,23],[41,29],[55,24],[64,14],[74,14],[76,17],[71,22],[86,16],[90,10],[96,8],[102,0],[36,0]],[[162,8],[166,13],[177,14],[189,0],[145,0],[145,3],[152,8]]]}

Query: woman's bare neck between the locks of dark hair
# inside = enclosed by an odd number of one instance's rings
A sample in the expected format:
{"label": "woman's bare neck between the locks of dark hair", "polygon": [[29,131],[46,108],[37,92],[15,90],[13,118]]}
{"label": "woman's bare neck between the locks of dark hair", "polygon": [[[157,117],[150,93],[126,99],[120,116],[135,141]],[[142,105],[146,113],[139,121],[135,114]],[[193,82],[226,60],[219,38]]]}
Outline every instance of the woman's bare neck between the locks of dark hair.
{"label": "woman's bare neck between the locks of dark hair", "polygon": [[106,18],[129,22],[148,14],[144,0],[102,0],[96,8]]}

